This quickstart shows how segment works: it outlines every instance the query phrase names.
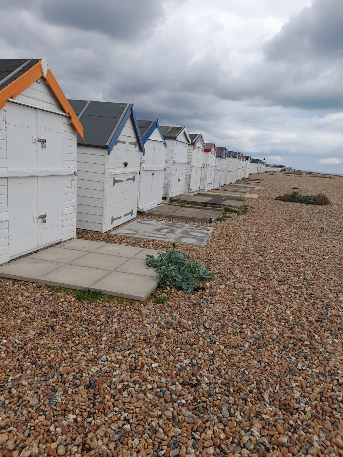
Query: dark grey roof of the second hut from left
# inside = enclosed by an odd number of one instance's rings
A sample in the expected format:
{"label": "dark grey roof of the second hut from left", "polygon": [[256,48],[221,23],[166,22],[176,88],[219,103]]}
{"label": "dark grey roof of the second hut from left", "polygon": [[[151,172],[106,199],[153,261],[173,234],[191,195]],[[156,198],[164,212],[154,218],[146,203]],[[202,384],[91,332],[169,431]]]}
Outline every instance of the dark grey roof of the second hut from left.
{"label": "dark grey roof of the second hut from left", "polygon": [[[87,100],[69,100],[69,102],[78,117],[88,103]],[[84,128],[84,139],[77,135],[77,144],[107,148],[108,140],[113,136],[113,131],[129,106],[127,103],[91,101],[79,117]]]}

